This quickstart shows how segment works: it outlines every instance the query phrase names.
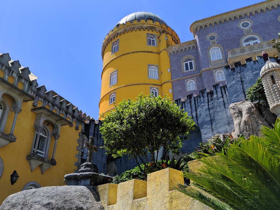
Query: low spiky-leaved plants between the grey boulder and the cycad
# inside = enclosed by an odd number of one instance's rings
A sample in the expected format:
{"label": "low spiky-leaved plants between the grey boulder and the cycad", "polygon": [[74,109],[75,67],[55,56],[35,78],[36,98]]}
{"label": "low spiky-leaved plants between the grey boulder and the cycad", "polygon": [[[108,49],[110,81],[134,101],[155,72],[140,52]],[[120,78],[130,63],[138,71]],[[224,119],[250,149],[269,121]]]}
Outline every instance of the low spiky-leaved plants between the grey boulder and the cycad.
{"label": "low spiky-leaved plants between the grey boulder and the cycad", "polygon": [[191,157],[193,157],[194,159],[200,159],[204,157],[214,156],[216,155],[216,153],[222,153],[226,155],[229,146],[231,144],[239,146],[242,139],[245,139],[244,135],[241,135],[238,139],[235,139],[231,135],[229,135],[224,141],[222,141],[218,137],[212,138],[206,143],[199,143],[196,151],[191,153]]}

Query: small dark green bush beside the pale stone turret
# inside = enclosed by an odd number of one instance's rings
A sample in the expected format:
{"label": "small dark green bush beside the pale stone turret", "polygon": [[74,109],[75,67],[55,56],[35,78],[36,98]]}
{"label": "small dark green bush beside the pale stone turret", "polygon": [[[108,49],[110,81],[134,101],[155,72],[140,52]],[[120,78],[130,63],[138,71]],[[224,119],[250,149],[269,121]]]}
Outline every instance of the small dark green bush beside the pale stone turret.
{"label": "small dark green bush beside the pale stone turret", "polygon": [[246,95],[247,100],[250,100],[251,102],[258,101],[264,106],[269,107],[264,92],[264,86],[260,77],[257,79],[256,83],[253,86],[247,89]]}

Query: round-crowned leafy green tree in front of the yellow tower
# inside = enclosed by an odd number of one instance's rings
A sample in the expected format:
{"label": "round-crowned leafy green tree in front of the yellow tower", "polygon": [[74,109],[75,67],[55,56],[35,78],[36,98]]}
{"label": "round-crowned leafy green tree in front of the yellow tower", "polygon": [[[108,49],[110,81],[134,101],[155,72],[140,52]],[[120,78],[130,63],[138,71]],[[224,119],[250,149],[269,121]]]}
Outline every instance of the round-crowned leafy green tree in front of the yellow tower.
{"label": "round-crowned leafy green tree in front of the yellow tower", "polygon": [[154,165],[161,148],[164,154],[169,150],[179,154],[182,141],[195,124],[168,96],[142,94],[136,100],[123,100],[102,117],[105,150],[115,158],[124,154],[133,157],[142,173],[148,168],[149,154]]}

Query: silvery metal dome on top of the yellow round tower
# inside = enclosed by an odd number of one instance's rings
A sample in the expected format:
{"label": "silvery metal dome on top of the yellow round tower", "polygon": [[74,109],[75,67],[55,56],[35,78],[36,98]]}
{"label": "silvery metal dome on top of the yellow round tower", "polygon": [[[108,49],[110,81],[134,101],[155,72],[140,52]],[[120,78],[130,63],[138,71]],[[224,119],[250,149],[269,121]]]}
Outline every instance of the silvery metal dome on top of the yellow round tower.
{"label": "silvery metal dome on top of the yellow round tower", "polygon": [[121,19],[116,26],[120,25],[120,24],[123,24],[123,23],[126,23],[128,21],[134,21],[134,20],[152,20],[152,21],[157,21],[159,22],[160,24],[166,24],[166,22],[164,22],[159,16],[151,13],[151,12],[134,12],[128,16],[125,16],[123,19]]}

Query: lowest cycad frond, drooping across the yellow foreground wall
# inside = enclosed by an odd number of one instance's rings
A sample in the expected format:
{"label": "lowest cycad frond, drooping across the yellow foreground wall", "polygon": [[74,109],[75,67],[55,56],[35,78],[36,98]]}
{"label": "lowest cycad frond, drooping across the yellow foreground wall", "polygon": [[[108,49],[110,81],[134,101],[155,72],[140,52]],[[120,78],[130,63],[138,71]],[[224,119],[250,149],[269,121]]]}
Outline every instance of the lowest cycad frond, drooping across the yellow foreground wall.
{"label": "lowest cycad frond, drooping across the yellow foreground wall", "polygon": [[194,198],[201,203],[211,207],[214,210],[231,210],[231,208],[224,203],[220,202],[217,199],[210,198],[205,194],[201,193],[199,190],[195,189],[194,187],[185,187],[182,184],[178,184],[178,188],[176,188],[180,192]]}

